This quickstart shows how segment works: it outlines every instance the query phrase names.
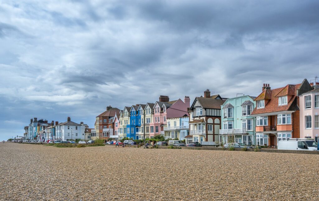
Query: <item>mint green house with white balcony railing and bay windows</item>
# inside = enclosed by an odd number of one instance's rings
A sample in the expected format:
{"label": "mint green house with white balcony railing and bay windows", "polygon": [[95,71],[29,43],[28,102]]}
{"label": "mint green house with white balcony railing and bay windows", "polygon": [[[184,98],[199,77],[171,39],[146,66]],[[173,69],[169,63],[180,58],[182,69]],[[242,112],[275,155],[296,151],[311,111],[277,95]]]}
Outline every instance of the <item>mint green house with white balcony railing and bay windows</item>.
{"label": "mint green house with white balcony railing and bay windows", "polygon": [[246,145],[255,144],[255,121],[250,114],[256,107],[256,97],[243,95],[229,98],[221,106],[221,128],[219,142],[234,142]]}

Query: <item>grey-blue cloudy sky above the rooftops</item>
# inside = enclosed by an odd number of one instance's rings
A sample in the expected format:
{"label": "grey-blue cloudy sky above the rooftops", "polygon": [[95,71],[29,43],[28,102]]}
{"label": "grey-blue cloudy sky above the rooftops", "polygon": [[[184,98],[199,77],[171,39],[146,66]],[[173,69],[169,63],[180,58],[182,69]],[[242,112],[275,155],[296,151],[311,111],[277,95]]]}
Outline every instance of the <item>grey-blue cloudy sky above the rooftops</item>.
{"label": "grey-blue cloudy sky above the rooftops", "polygon": [[107,105],[310,81],[318,19],[319,1],[0,0],[0,140],[33,117],[92,127]]}

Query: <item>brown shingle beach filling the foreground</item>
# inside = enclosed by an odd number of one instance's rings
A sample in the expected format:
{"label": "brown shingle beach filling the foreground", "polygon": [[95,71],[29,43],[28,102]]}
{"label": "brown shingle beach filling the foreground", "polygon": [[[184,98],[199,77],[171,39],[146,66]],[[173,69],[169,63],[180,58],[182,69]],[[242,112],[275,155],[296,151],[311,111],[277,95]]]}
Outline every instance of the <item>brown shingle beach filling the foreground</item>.
{"label": "brown shingle beach filling the foreground", "polygon": [[319,200],[319,156],[0,143],[0,200]]}

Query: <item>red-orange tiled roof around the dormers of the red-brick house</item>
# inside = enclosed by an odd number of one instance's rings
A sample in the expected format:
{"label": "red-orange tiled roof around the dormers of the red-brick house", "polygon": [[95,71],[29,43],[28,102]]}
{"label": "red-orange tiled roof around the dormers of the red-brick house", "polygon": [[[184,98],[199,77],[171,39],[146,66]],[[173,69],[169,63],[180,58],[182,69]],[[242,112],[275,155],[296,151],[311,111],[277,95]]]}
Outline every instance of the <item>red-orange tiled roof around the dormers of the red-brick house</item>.
{"label": "red-orange tiled roof around the dormers of the red-brick house", "polygon": [[[306,85],[307,83],[305,83]],[[308,83],[309,85],[309,83]],[[300,89],[301,84],[296,84],[296,85],[286,85],[285,87],[280,87],[276,89],[265,89],[263,90],[262,94],[267,91],[268,94],[271,95],[271,97],[267,97],[266,100],[268,102],[265,102],[265,107],[264,108],[259,108],[255,107],[255,109],[252,111],[251,115],[255,114],[266,114],[266,113],[272,113],[272,112],[280,112],[280,111],[295,111],[299,110],[297,106],[297,90]],[[292,91],[293,90],[293,94]],[[292,94],[292,95],[291,95]],[[278,106],[278,97],[281,95],[291,95],[292,97],[290,98],[289,102],[287,105],[281,105]],[[262,100],[263,98],[261,95],[257,96],[256,100]],[[289,98],[288,98],[289,99]]]}

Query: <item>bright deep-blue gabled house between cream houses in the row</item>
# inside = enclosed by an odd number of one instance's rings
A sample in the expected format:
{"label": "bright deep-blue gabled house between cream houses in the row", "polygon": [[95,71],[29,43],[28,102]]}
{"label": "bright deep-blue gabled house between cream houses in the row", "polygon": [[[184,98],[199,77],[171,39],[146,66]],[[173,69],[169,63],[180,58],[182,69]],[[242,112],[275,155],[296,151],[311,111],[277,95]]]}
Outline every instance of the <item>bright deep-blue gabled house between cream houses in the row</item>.
{"label": "bright deep-blue gabled house between cream houses in the row", "polygon": [[139,105],[133,105],[130,109],[130,124],[126,126],[130,132],[127,132],[126,137],[138,140],[136,136],[141,127],[141,111],[138,110]]}

